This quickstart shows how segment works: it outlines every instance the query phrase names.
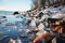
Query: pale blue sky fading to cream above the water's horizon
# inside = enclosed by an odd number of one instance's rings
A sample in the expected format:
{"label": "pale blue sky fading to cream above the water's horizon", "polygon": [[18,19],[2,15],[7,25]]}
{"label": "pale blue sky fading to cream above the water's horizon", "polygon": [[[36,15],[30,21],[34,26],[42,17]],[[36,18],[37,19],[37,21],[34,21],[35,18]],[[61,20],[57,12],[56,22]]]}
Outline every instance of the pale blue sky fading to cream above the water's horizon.
{"label": "pale blue sky fading to cream above the water's horizon", "polygon": [[27,11],[30,5],[30,0],[0,0],[0,11]]}

